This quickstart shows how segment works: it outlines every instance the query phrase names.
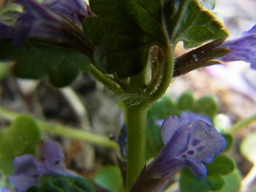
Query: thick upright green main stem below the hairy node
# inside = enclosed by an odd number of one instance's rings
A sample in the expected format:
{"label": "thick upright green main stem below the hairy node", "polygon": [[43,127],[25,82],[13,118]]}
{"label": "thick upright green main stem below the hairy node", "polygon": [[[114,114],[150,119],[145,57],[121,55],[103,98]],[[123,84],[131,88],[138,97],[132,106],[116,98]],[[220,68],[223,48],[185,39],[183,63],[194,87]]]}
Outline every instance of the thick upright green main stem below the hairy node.
{"label": "thick upright green main stem below the hairy node", "polygon": [[145,105],[125,106],[127,123],[126,191],[134,185],[144,164],[146,147]]}

